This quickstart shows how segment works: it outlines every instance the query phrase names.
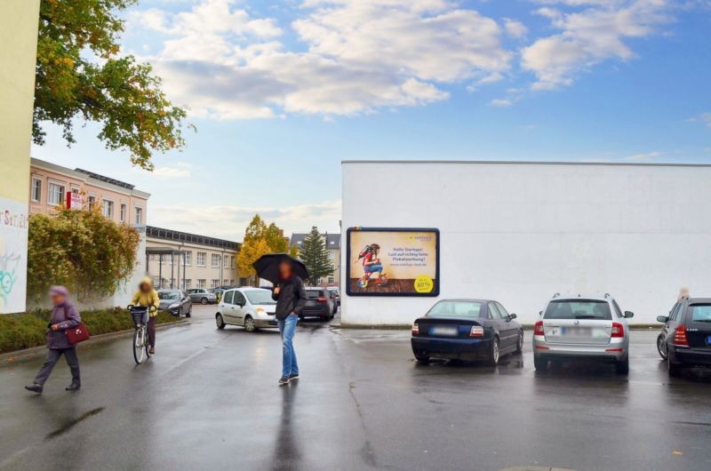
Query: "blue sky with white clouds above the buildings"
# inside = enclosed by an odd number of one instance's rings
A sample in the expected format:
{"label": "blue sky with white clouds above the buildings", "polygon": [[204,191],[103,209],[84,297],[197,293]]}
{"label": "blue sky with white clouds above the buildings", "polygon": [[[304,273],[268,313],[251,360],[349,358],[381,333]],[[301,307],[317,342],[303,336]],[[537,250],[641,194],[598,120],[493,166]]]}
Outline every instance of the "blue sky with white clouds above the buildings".
{"label": "blue sky with white clouds above the buildings", "polygon": [[[148,224],[339,231],[357,159],[711,163],[711,0],[140,0],[122,53],[188,108],[133,168],[77,122],[33,156],[151,193]],[[387,179],[363,204],[387,198]]]}

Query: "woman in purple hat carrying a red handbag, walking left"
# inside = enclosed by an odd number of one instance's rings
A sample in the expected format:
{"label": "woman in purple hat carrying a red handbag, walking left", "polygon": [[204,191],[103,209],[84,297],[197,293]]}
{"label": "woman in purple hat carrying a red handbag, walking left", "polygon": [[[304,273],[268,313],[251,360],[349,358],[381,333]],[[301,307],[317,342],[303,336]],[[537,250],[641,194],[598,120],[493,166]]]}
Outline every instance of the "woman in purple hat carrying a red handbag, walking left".
{"label": "woman in purple hat carrying a red handbag, walking left", "polygon": [[76,357],[76,347],[69,343],[67,339],[67,330],[73,329],[82,323],[82,317],[76,306],[68,299],[68,291],[64,286],[52,286],[50,289],[50,298],[52,298],[52,315],[50,315],[50,323],[47,325],[47,360],[40,368],[32,386],[26,386],[25,389],[33,393],[42,394],[44,390],[44,382],[50,377],[50,373],[54,365],[60,360],[60,356],[64,355],[69,365],[69,370],[72,372],[72,384],[65,389],[67,391],[76,391],[82,386],[82,381],[79,377],[79,359]]}

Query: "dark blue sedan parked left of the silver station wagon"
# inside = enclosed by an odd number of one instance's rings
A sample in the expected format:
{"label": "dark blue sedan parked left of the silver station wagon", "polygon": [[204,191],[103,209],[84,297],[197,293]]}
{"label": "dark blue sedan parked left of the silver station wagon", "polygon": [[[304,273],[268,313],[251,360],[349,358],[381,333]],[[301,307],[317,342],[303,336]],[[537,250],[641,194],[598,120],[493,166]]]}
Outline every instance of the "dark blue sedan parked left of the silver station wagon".
{"label": "dark blue sedan parked left of the silver station wagon", "polygon": [[439,357],[496,365],[501,355],[523,349],[515,318],[491,299],[444,299],[412,324],[412,353],[425,364]]}

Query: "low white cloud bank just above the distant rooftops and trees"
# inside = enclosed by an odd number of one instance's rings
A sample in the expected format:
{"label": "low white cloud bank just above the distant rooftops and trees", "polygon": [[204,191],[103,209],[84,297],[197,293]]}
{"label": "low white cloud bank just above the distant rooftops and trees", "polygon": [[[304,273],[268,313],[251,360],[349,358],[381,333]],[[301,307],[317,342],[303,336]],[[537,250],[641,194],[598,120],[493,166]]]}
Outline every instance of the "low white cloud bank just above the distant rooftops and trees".
{"label": "low white cloud bank just above the distant rooftops and trees", "polygon": [[220,237],[241,242],[244,228],[255,214],[275,222],[284,235],[307,232],[312,226],[323,231],[338,232],[340,201],[295,206],[195,206],[151,205],[148,224],[158,228],[172,228],[200,235]]}

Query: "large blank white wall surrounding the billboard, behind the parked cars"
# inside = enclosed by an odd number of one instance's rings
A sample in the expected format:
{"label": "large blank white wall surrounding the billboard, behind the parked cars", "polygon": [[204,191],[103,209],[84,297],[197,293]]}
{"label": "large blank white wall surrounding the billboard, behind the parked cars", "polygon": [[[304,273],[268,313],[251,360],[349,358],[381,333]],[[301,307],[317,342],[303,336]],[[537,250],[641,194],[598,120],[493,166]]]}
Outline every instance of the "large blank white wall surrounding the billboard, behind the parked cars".
{"label": "large blank white wall surrounding the billboard, behind the parked cars", "polygon": [[[344,324],[411,323],[437,299],[498,299],[533,323],[555,292],[609,292],[635,323],[682,286],[711,296],[711,166],[344,162],[349,227],[439,228],[439,298],[349,297]],[[342,264],[348,263],[342,251]]]}

